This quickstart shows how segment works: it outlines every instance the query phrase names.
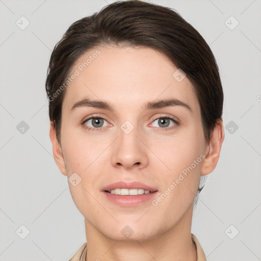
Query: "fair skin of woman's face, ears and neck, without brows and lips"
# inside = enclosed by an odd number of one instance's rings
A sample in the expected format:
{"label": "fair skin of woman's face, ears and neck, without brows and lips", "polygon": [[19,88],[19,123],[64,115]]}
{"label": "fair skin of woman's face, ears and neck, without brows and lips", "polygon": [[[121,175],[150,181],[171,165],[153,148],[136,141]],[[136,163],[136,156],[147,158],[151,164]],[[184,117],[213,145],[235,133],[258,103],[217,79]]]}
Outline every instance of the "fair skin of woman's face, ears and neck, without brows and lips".
{"label": "fair skin of woman's face, ears and neck, without brows and lips", "polygon": [[[217,165],[224,140],[223,122],[217,120],[207,143],[191,82],[188,77],[177,82],[172,76],[177,67],[153,49],[98,46],[83,55],[73,69],[96,49],[100,55],[67,87],[61,146],[50,122],[58,167],[68,178],[75,172],[82,178],[76,187],[69,182],[69,188],[85,217],[85,260],[197,260],[191,240],[193,202],[200,174],[211,173]],[[91,107],[71,110],[86,97],[106,100],[115,111]],[[192,111],[182,106],[143,110],[148,101],[169,98],[187,103]],[[97,132],[81,125],[90,115],[105,119]],[[158,118],[168,115],[179,119],[179,124],[170,120],[162,127]],[[128,135],[120,128],[126,120],[134,126]],[[91,120],[85,125],[97,128]],[[158,190],[157,198],[202,153],[205,158],[157,206],[151,201],[119,206],[101,193],[101,188],[115,181],[141,181]],[[126,225],[134,231],[129,238],[121,233]]]}

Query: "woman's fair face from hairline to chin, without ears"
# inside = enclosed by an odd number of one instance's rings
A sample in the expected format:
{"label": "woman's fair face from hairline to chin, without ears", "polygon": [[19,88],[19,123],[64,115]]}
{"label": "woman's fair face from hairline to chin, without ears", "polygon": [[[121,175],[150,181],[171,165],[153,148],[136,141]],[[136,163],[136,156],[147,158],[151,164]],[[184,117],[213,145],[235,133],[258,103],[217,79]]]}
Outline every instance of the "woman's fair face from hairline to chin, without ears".
{"label": "woman's fair face from hairline to chin, without ears", "polygon": [[[113,240],[127,240],[125,232],[129,240],[146,240],[191,222],[208,145],[192,84],[177,69],[150,48],[103,46],[72,70],[62,106],[64,174],[87,226]],[[105,192],[117,181],[155,192]],[[127,192],[145,188],[133,187]]]}

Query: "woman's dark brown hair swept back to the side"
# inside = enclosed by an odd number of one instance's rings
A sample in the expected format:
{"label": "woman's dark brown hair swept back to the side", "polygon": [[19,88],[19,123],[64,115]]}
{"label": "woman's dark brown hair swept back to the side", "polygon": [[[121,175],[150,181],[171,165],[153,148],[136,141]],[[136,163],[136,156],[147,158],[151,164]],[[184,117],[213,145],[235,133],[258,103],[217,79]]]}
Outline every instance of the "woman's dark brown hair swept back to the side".
{"label": "woman's dark brown hair swept back to the side", "polygon": [[49,118],[60,144],[62,102],[67,89],[55,98],[54,94],[64,84],[77,59],[90,49],[110,44],[153,48],[184,71],[199,101],[205,140],[210,141],[223,110],[219,68],[210,47],[175,10],[132,0],[115,2],[75,21],[55,45],[45,89],[47,97],[53,98],[49,99]]}

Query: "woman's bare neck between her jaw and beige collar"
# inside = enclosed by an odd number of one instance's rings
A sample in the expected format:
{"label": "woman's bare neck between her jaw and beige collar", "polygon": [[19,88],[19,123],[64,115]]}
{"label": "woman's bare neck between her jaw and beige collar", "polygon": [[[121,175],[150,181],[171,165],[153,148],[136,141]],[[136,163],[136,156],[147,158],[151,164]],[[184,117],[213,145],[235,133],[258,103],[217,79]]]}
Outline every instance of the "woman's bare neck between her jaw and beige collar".
{"label": "woman's bare neck between her jaw and beige collar", "polygon": [[155,231],[146,240],[112,240],[85,219],[87,256],[83,260],[106,261],[197,261],[196,246],[191,239],[193,207],[171,229]]}

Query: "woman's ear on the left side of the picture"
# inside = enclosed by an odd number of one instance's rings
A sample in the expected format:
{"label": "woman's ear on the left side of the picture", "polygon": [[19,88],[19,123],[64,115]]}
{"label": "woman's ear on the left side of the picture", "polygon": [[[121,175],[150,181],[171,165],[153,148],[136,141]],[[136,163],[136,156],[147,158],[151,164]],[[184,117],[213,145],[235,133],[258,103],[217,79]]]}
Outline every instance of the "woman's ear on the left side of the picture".
{"label": "woman's ear on the left side of the picture", "polygon": [[62,174],[66,176],[65,162],[62,154],[62,149],[57,139],[56,129],[53,121],[50,121],[50,140],[53,144],[53,154],[55,162]]}

